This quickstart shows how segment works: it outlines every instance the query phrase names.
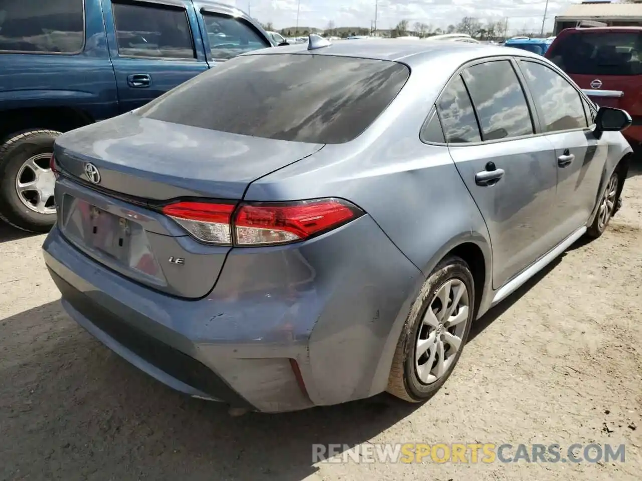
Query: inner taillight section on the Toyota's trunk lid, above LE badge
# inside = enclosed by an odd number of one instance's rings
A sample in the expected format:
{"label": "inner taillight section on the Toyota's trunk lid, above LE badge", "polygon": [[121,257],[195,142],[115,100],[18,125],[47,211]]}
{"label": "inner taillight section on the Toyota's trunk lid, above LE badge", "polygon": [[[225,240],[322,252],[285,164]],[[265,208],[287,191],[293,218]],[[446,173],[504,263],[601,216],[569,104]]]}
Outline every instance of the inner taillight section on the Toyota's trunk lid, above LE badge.
{"label": "inner taillight section on the Toyota's trunk lid, above LE badge", "polygon": [[178,202],[166,205],[162,212],[199,241],[231,246],[230,220],[234,207],[234,204]]}

